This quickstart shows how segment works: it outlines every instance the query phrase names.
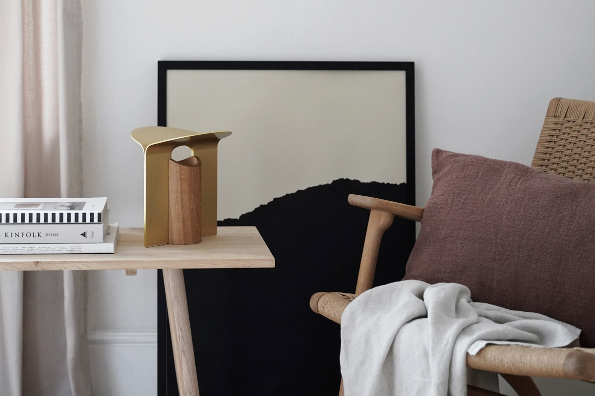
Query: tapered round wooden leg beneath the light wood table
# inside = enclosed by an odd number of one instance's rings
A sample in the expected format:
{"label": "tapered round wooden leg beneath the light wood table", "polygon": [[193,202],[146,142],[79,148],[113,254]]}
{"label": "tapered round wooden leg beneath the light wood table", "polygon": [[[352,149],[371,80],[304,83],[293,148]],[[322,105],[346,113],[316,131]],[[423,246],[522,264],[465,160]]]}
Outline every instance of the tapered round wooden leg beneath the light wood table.
{"label": "tapered round wooden leg beneath the light wood table", "polygon": [[164,269],[163,282],[180,396],[199,396],[183,270]]}

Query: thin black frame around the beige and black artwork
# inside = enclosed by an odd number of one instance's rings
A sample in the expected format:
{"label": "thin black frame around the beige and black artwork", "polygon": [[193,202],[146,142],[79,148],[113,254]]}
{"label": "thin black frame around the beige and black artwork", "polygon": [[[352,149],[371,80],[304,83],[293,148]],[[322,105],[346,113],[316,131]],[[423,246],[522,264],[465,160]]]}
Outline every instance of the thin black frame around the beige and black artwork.
{"label": "thin black frame around the beige and black artwork", "polygon": [[[414,62],[366,61],[158,61],[157,124],[167,127],[167,73],[169,70],[389,70],[405,71],[406,95],[406,194],[403,203],[415,205],[415,90]],[[415,223],[406,221],[405,249],[411,252],[415,243]],[[363,243],[363,240],[362,240]],[[188,271],[188,270],[186,270]],[[191,270],[202,271],[202,270]],[[398,279],[395,279],[398,280]],[[158,271],[158,392],[159,395],[176,394],[177,390],[171,336],[165,303],[165,290],[161,270]],[[308,305],[308,301],[303,301]],[[191,323],[193,318],[190,318]],[[321,318],[324,320],[324,318]],[[337,337],[339,331],[337,329]],[[196,350],[196,346],[195,346]],[[337,364],[338,364],[337,356]],[[208,364],[197,360],[197,366]],[[337,391],[338,391],[337,383]],[[200,382],[199,382],[200,386]],[[202,394],[202,391],[201,391]]]}

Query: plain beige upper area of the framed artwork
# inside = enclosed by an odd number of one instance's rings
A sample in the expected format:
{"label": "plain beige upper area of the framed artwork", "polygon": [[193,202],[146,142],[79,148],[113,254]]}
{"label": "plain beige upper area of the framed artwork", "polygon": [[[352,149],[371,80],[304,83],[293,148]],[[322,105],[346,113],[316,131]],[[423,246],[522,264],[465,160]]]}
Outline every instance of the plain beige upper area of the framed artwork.
{"label": "plain beige upper area of the framed artwork", "polygon": [[339,178],[406,181],[405,71],[168,70],[167,126],[233,132],[220,220]]}

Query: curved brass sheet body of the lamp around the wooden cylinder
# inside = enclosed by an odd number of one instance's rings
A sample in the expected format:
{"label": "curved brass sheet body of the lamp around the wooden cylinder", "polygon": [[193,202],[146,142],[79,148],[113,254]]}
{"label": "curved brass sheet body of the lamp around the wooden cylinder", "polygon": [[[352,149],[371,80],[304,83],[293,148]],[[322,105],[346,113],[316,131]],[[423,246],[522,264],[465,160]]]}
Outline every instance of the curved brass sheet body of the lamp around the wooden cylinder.
{"label": "curved brass sheet body of the lamp around the wooden cylinder", "polygon": [[145,246],[169,240],[169,168],[171,152],[188,146],[202,162],[201,235],[217,234],[217,145],[230,131],[195,133],[178,128],[142,127],[132,131],[145,152]]}

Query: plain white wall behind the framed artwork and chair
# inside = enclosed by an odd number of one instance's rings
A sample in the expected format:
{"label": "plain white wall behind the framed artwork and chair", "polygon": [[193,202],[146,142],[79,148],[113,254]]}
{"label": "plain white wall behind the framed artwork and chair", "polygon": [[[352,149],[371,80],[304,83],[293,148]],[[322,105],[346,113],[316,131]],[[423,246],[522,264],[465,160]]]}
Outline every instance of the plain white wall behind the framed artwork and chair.
{"label": "plain white wall behind the framed artwork and chair", "polygon": [[[142,225],[130,131],[156,124],[158,60],[415,61],[423,205],[433,147],[530,164],[549,99],[595,100],[594,12],[589,0],[83,0],[84,193],[108,196],[124,227]],[[151,394],[155,282],[151,271],[91,274],[98,395]],[[105,370],[115,364],[139,370]]]}

